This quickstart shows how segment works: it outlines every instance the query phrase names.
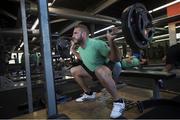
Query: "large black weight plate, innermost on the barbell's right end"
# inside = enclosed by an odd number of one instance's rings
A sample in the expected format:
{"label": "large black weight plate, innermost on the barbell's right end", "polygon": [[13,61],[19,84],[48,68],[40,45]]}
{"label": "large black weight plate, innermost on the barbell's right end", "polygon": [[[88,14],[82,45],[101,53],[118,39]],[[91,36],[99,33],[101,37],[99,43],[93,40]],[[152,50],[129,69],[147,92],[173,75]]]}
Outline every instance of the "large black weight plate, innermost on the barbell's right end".
{"label": "large black weight plate, innermost on the barbell's right end", "polygon": [[139,10],[144,10],[145,12],[147,11],[143,4],[136,3],[127,7],[122,13],[122,31],[127,44],[129,44],[131,49],[133,50],[138,50],[139,48],[146,48],[153,36],[153,34],[148,37],[145,36],[145,33],[142,32],[143,28],[139,28],[139,26],[141,27],[144,24],[142,23],[142,25],[139,25],[141,24],[139,22]]}

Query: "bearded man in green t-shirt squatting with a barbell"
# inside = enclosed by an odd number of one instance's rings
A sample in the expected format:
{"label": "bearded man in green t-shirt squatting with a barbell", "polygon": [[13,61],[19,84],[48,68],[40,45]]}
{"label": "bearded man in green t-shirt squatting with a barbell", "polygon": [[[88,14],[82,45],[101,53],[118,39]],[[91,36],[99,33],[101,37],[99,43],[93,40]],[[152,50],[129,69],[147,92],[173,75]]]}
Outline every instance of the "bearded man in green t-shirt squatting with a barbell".
{"label": "bearded man in green t-shirt squatting with a barbell", "polygon": [[[77,98],[76,101],[83,102],[96,98],[96,93],[92,92],[86,85],[86,80],[92,80],[92,75],[94,75],[113,97],[113,109],[110,117],[118,118],[125,109],[125,103],[118,96],[116,85],[112,78],[112,71],[105,65],[108,59],[112,61],[117,59],[117,49],[113,42],[114,36],[107,34],[109,46],[102,40],[92,39],[88,36],[89,30],[85,25],[80,24],[74,28],[71,52],[78,59],[82,60],[88,70],[86,71],[80,65],[71,68],[71,74],[84,91],[84,94]],[[75,49],[76,44],[79,45],[78,52]]]}

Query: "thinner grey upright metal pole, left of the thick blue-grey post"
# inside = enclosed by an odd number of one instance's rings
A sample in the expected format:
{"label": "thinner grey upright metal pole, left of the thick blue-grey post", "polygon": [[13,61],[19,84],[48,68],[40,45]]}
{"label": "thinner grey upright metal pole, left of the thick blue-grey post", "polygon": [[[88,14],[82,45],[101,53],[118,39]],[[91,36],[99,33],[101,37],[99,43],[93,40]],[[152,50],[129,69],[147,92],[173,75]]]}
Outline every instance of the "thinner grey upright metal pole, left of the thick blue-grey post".
{"label": "thinner grey upright metal pole, left of the thick blue-grey post", "polygon": [[32,102],[32,85],[31,85],[31,72],[29,63],[29,46],[28,46],[28,35],[27,35],[27,24],[26,24],[26,9],[25,0],[21,0],[21,16],[22,16],[22,29],[24,38],[24,54],[25,54],[25,65],[26,65],[26,80],[27,80],[27,94],[28,94],[28,110],[33,112]]}

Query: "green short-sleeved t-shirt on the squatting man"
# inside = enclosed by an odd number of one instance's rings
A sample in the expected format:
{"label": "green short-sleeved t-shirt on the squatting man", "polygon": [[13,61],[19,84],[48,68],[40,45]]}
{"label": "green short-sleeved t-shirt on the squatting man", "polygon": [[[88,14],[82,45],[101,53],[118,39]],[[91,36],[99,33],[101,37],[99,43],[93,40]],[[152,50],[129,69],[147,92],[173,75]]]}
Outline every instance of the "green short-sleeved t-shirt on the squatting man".
{"label": "green short-sleeved t-shirt on the squatting man", "polygon": [[79,47],[78,51],[84,65],[89,70],[94,71],[98,66],[106,63],[109,57],[110,48],[102,40],[88,38],[86,47]]}

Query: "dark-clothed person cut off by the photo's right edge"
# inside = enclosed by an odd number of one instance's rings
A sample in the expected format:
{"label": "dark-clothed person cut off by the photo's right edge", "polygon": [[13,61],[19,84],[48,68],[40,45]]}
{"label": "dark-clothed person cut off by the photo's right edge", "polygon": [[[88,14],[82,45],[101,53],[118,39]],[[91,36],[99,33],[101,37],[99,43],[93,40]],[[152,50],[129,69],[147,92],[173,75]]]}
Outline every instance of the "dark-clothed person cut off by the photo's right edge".
{"label": "dark-clothed person cut off by the photo's right edge", "polygon": [[180,65],[180,41],[167,50],[164,59],[166,60],[164,71],[166,72],[170,72],[174,66]]}

